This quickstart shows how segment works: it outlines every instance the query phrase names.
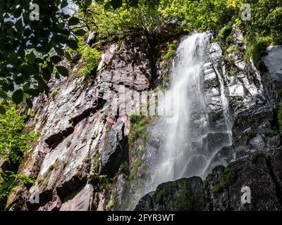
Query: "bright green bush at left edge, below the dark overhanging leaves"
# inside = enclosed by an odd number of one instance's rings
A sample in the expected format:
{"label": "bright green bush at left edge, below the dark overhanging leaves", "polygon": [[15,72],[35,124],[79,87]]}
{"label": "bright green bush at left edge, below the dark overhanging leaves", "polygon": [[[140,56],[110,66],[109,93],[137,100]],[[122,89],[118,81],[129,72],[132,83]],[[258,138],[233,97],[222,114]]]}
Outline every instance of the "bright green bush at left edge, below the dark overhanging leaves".
{"label": "bright green bush at left edge, below the dark overhanging leaves", "polygon": [[31,143],[37,140],[38,134],[23,131],[26,116],[19,115],[15,105],[10,103],[5,108],[6,113],[0,115],[0,157],[19,163]]}

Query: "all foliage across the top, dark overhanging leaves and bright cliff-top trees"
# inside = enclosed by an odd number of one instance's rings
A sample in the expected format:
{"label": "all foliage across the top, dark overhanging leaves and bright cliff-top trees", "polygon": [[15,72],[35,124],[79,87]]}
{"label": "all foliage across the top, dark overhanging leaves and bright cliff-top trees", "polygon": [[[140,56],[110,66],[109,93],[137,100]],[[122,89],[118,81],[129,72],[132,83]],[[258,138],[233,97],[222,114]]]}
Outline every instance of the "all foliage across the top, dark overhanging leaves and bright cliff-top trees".
{"label": "all foliage across the top, dark overhanging leaves and bright cliff-top trees", "polygon": [[[66,0],[34,1],[40,9],[39,20],[29,19],[30,1],[18,2],[0,4],[0,40],[4,43],[0,46],[0,97],[13,92],[17,104],[26,101],[31,106],[34,96],[48,93],[47,82],[54,70],[68,76],[68,70],[58,63],[70,59],[66,46],[77,50],[78,36],[87,30],[95,30],[98,38],[123,37],[132,31],[153,37],[162,34],[166,25],[178,25],[183,32],[219,32],[226,24],[229,30],[237,24],[245,34],[247,56],[260,55],[256,52],[264,44],[256,44],[261,38],[282,44],[282,2],[276,0],[74,0],[79,13],[73,17],[64,10]],[[242,4],[251,6],[250,21],[240,18]]]}

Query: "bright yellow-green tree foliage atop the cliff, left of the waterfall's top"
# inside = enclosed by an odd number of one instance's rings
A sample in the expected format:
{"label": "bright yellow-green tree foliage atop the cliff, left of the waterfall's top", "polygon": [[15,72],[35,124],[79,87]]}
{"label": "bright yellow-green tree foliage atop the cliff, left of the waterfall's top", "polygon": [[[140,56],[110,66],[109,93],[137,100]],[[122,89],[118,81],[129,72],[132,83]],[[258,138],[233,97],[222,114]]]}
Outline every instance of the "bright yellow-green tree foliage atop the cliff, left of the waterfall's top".
{"label": "bright yellow-green tree foliage atop the cliff, left of the waterfall's top", "polygon": [[[105,1],[106,6],[109,2]],[[132,29],[152,33],[159,25],[157,1],[139,0],[138,7],[128,7],[125,2],[118,6],[109,8],[94,2],[87,11],[80,11],[80,17],[97,31],[99,37],[110,37]]]}

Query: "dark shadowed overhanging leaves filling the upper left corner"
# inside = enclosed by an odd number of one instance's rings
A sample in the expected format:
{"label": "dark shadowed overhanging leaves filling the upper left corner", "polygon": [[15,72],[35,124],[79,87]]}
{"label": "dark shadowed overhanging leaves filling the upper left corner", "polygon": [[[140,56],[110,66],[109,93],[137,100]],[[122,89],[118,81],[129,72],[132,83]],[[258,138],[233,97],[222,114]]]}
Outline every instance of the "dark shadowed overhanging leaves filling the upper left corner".
{"label": "dark shadowed overhanging leaves filling the upper left corner", "polygon": [[[86,8],[85,1],[75,2]],[[29,106],[33,97],[49,91],[47,82],[63,60],[66,46],[76,49],[75,35],[82,34],[76,26],[80,20],[62,10],[67,0],[35,0],[32,4],[39,6],[39,20],[30,19],[35,8],[30,9],[29,0],[0,4],[0,89],[13,93],[14,103],[26,101]],[[58,72],[67,75],[66,69]]]}

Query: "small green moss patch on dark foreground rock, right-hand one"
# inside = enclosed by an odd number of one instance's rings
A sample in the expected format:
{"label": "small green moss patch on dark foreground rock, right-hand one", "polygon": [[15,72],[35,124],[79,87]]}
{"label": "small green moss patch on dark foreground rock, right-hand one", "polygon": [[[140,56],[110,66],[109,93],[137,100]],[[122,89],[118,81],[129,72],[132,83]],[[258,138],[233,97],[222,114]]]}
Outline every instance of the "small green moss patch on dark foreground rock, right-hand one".
{"label": "small green moss patch on dark foreground rock, right-hand one", "polygon": [[212,194],[219,195],[224,189],[228,188],[235,181],[237,172],[233,167],[226,167],[220,176],[220,180],[212,187]]}

